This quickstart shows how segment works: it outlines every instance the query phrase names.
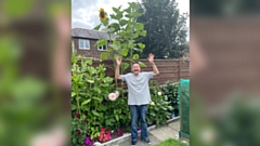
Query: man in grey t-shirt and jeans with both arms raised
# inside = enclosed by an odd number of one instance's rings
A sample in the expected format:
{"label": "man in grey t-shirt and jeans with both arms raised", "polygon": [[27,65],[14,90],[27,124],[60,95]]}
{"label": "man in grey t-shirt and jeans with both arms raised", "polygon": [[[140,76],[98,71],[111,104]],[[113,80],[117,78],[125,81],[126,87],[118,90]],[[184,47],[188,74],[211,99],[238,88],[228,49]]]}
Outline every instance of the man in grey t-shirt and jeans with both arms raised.
{"label": "man in grey t-shirt and jeans with both arms raised", "polygon": [[147,123],[146,123],[146,114],[147,106],[151,102],[148,80],[154,76],[159,74],[155,63],[154,55],[150,54],[147,57],[148,62],[153,66],[153,71],[141,72],[141,67],[139,64],[132,65],[132,72],[127,75],[120,75],[119,68],[121,59],[117,58],[115,78],[126,81],[128,87],[128,105],[130,107],[131,114],[131,137],[132,146],[136,145],[138,142],[138,119],[141,119],[141,140],[147,144],[151,144],[147,135]]}

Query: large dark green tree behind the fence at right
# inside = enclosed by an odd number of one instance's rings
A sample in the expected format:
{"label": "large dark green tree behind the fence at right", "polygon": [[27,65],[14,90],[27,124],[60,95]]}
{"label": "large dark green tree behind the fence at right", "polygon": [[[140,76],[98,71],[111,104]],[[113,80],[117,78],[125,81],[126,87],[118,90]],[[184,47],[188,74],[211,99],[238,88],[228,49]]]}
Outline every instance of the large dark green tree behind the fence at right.
{"label": "large dark green tree behind the fence at right", "polygon": [[139,5],[143,15],[136,21],[147,30],[140,39],[146,47],[140,56],[154,53],[157,58],[182,57],[187,48],[187,14],[180,14],[174,0],[142,0]]}

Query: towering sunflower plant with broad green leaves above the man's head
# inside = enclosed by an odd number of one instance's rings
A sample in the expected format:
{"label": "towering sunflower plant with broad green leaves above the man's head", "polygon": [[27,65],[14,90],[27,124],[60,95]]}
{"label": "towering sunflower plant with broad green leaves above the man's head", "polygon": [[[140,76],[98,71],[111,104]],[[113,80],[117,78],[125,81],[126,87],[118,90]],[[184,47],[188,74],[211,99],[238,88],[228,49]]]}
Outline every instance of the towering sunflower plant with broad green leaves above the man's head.
{"label": "towering sunflower plant with broad green leaves above the man's head", "polygon": [[[129,2],[129,6],[121,10],[121,5],[118,8],[113,8],[114,13],[107,16],[104,9],[100,9],[100,21],[101,24],[94,29],[102,30],[108,34],[109,39],[101,38],[96,41],[95,45],[107,45],[107,52],[101,54],[102,59],[108,57],[114,59],[120,57],[123,62],[121,64],[121,71],[125,71],[130,64],[139,59],[139,52],[143,52],[145,44],[136,42],[136,39],[142,36],[146,36],[146,30],[144,30],[144,25],[136,22],[136,18],[142,15],[139,13],[139,5],[134,2]],[[102,28],[102,29],[101,29]],[[112,40],[112,35],[116,36],[116,39]],[[112,41],[109,41],[112,40]],[[139,62],[141,67],[145,65]]]}

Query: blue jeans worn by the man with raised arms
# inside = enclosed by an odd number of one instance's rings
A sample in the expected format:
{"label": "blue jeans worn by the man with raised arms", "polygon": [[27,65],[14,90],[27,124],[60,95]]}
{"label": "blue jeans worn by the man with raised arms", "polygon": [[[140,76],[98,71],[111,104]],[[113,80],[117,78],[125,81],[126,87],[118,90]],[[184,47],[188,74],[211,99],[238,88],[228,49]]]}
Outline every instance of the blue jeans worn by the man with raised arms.
{"label": "blue jeans worn by the man with raised arms", "polygon": [[147,105],[130,105],[131,112],[131,136],[132,141],[138,141],[138,120],[141,119],[141,138],[147,138]]}

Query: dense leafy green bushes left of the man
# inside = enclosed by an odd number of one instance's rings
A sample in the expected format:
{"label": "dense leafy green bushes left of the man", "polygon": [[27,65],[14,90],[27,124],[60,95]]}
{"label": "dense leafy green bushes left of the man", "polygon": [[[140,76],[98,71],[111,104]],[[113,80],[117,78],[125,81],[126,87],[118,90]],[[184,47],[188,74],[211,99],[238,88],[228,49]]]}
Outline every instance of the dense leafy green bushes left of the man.
{"label": "dense leafy green bushes left of the man", "polygon": [[[72,65],[72,141],[82,145],[86,136],[100,136],[101,128],[117,130],[130,121],[126,97],[108,101],[113,78],[105,76],[103,64],[73,54]],[[122,90],[118,89],[119,93]]]}

